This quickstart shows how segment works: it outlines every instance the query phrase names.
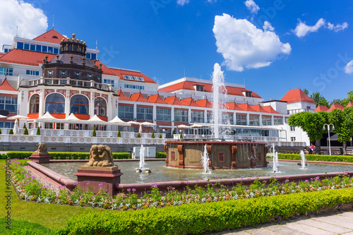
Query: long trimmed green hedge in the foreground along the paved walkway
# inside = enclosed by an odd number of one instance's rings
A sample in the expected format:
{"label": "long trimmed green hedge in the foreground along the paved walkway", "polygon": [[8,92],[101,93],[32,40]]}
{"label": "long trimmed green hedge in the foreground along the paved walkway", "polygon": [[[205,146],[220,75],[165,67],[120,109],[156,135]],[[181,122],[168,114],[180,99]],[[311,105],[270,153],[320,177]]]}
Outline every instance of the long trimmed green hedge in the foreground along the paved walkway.
{"label": "long trimmed green hedge in the foreground along the paved walkway", "polygon": [[203,234],[269,219],[333,209],[353,202],[353,188],[130,211],[92,212],[68,219],[57,234]]}

